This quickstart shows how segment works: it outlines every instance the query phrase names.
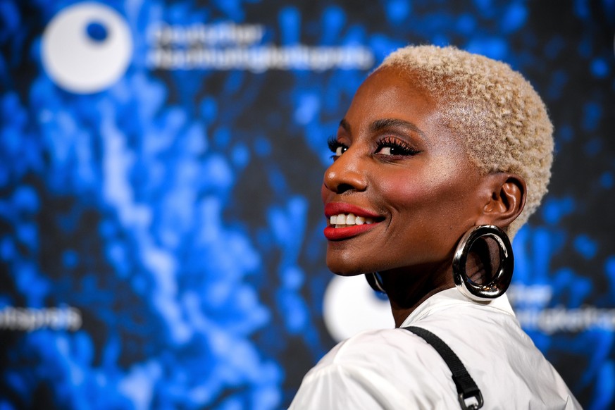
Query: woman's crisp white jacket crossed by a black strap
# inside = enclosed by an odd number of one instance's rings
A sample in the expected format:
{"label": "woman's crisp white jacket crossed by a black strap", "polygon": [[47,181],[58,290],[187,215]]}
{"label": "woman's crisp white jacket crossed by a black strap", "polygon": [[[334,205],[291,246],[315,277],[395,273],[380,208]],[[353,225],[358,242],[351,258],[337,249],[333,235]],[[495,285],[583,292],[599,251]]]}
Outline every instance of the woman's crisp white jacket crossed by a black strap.
{"label": "woman's crisp white jacket crossed by a black strap", "polygon": [[[483,394],[483,409],[580,409],[514,316],[506,296],[476,303],[439,292],[402,327],[449,345]],[[340,342],[306,374],[290,409],[459,409],[440,354],[407,330],[369,330]]]}

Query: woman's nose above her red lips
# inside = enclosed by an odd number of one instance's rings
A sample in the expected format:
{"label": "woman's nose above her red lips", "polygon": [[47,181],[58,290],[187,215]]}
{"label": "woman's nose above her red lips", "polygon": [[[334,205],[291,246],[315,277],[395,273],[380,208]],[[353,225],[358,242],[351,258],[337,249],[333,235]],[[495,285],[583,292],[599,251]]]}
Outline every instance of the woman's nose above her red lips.
{"label": "woman's nose above her red lips", "polygon": [[364,166],[361,166],[361,157],[358,151],[351,148],[337,157],[325,170],[323,181],[325,188],[342,194],[347,191],[364,191],[367,187]]}

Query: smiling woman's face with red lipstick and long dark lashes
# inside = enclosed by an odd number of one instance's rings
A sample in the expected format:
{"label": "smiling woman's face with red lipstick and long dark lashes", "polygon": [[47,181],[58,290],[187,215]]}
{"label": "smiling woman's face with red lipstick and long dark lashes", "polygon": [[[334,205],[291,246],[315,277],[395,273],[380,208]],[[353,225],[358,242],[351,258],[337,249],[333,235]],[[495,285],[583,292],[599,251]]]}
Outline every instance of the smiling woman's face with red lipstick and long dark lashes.
{"label": "smiling woman's face with red lipstick and long dark lashes", "polygon": [[322,197],[337,223],[325,228],[335,273],[449,271],[456,243],[490,197],[435,100],[413,83],[397,68],[373,73],[330,142]]}

